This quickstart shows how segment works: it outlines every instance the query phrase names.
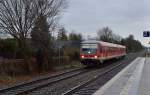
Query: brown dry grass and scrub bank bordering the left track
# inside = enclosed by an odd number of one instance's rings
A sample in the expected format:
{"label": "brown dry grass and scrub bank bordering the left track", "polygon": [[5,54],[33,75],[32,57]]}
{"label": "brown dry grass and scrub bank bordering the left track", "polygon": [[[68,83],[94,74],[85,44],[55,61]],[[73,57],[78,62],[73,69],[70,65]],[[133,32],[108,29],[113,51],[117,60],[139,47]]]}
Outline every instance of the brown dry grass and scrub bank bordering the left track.
{"label": "brown dry grass and scrub bank bordering the left track", "polygon": [[82,65],[76,61],[71,63],[69,63],[68,61],[66,63],[64,62],[62,62],[61,64],[54,64],[53,68],[49,69],[48,71],[43,71],[41,73],[39,73],[37,70],[37,64],[31,62],[31,64],[28,65],[30,67],[30,73],[28,73],[28,67],[27,64],[24,63],[24,61],[4,59],[0,62],[0,88],[2,86],[10,86],[18,82],[29,81],[39,76],[54,74],[56,72],[60,72],[66,69],[82,67]]}

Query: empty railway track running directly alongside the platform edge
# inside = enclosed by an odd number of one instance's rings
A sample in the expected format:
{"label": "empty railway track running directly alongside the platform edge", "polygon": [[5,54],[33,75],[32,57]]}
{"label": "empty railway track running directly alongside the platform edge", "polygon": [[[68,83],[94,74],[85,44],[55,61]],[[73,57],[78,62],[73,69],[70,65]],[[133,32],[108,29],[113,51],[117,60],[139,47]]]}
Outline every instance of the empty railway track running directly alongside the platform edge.
{"label": "empty railway track running directly alongside the platform edge", "polygon": [[66,91],[62,95],[92,95],[127,65],[128,64],[120,63],[107,70],[104,70],[100,74],[93,76],[90,80],[79,84],[78,86]]}

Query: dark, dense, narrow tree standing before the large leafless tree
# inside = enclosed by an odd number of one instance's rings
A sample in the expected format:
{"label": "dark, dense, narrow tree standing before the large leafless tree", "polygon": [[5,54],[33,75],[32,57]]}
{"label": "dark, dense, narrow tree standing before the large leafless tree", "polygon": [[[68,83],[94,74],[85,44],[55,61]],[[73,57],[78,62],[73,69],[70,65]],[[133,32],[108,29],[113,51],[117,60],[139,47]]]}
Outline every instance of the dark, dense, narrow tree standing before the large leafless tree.
{"label": "dark, dense, narrow tree standing before the large leafless tree", "polygon": [[37,49],[36,59],[39,71],[48,70],[48,64],[52,57],[50,56],[52,55],[52,42],[47,19],[44,16],[41,15],[37,19],[35,27],[31,31],[31,37],[32,44]]}

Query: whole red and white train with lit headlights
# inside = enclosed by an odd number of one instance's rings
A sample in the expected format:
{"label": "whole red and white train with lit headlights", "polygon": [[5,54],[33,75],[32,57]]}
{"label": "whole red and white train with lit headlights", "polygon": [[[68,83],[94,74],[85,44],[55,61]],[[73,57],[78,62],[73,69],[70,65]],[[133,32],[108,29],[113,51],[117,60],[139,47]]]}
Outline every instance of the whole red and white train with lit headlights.
{"label": "whole red and white train with lit headlights", "polygon": [[126,47],[102,41],[83,41],[80,59],[84,65],[103,63],[105,60],[120,58],[126,55]]}

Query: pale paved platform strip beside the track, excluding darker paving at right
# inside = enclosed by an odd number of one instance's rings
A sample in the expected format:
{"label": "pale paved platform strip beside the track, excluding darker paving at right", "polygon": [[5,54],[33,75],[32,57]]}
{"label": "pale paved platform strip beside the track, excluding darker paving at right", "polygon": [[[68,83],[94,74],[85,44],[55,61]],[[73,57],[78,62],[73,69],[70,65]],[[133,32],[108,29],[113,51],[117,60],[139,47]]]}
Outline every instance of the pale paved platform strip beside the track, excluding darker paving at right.
{"label": "pale paved platform strip beside the track, excluding darker paving at right", "polygon": [[93,95],[137,95],[144,63],[145,58],[135,59]]}

